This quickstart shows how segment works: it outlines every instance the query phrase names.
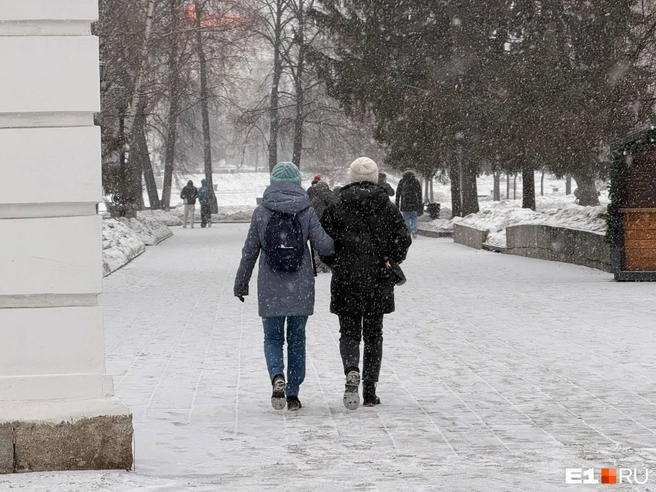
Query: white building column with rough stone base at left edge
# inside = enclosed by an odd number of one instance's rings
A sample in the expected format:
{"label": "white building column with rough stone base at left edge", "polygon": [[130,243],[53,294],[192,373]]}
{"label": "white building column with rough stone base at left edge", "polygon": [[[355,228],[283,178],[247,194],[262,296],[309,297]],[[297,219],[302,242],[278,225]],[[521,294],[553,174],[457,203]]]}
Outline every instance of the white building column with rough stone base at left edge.
{"label": "white building column with rough stone base at left edge", "polygon": [[130,468],[105,374],[97,0],[0,0],[0,472]]}

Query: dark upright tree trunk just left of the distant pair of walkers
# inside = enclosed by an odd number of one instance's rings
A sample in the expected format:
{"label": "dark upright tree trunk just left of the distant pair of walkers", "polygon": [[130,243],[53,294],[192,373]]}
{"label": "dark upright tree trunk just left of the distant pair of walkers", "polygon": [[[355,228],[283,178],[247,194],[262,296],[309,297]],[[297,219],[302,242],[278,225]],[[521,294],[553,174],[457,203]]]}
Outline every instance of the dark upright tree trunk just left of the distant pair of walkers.
{"label": "dark upright tree trunk just left of the distant pair of walkers", "polygon": [[179,1],[169,0],[171,10],[171,36],[169,46],[169,111],[166,123],[166,148],[164,156],[164,183],[162,185],[162,207],[171,208],[171,188],[173,185],[173,171],[175,167],[175,143],[178,138],[178,106],[180,98],[179,74]]}

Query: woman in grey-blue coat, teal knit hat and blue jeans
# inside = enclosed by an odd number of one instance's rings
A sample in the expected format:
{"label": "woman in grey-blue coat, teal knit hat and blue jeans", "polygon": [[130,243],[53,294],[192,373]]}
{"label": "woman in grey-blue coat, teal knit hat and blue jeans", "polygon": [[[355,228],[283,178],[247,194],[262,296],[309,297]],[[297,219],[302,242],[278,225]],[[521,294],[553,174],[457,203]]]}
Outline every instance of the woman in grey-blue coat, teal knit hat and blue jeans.
{"label": "woman in grey-blue coat, teal knit hat and blue jeans", "polygon": [[[282,216],[300,225],[302,260],[295,271],[277,271],[267,258],[271,238],[267,225]],[[273,219],[272,219],[273,218]],[[334,254],[333,240],[325,233],[310,201],[301,188],[301,174],[291,162],[279,163],[271,173],[271,185],[264,192],[262,205],[255,209],[242,259],[235,279],[234,294],[241,301],[249,293],[248,284],[260,258],[257,279],[259,315],[264,327],[264,356],[273,385],[271,404],[277,410],[301,408],[298,392],[305,379],[305,325],[314,313],[314,273],[307,247],[310,241],[319,254]],[[274,252],[269,251],[273,257]],[[287,321],[287,382],[283,345]]]}

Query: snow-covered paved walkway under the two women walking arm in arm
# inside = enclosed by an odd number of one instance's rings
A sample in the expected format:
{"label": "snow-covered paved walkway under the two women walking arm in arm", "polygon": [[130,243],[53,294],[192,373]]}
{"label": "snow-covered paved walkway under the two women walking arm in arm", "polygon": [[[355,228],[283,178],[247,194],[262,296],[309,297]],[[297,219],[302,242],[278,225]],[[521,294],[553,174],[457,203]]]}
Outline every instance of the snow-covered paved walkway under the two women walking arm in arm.
{"label": "snow-covered paved walkway under the two women walking arm in arm", "polygon": [[324,274],[304,408],[277,412],[255,297],[232,296],[247,227],[176,229],[105,279],[136,472],[3,476],[0,490],[596,490],[566,486],[565,468],[656,468],[655,285],[419,238],[386,317],[382,405],[342,405]]}

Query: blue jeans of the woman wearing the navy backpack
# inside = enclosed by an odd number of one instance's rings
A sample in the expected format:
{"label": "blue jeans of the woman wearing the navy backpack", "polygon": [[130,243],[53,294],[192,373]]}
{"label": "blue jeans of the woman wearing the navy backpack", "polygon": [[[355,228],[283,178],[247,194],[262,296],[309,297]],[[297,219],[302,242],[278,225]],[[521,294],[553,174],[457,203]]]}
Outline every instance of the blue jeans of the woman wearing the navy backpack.
{"label": "blue jeans of the woman wearing the navy backpack", "polygon": [[285,374],[283,345],[285,344],[285,319],[287,320],[287,390],[288,396],[298,396],[305,380],[305,325],[307,316],[281,316],[262,318],[264,326],[264,357],[269,377]]}

